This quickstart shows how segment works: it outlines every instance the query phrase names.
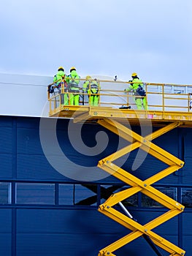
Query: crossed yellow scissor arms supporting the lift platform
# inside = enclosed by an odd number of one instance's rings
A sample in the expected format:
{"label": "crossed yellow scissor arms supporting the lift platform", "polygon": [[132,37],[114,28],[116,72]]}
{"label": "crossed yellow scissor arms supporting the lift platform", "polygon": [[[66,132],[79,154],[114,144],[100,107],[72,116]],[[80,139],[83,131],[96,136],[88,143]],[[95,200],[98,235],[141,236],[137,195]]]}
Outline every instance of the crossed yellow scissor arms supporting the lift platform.
{"label": "crossed yellow scissor arms supporting the lift platform", "polygon": [[[113,244],[110,244],[104,249],[101,249],[99,251],[99,256],[114,255],[112,254],[112,252],[119,249],[121,246],[128,244],[139,236],[148,236],[155,245],[166,250],[166,252],[169,252],[170,255],[185,255],[185,251],[183,249],[180,249],[178,246],[175,246],[171,242],[167,241],[165,238],[158,236],[158,234],[152,231],[153,228],[158,227],[158,225],[163,224],[167,220],[172,219],[173,217],[177,216],[177,214],[183,212],[185,208],[182,204],[164,195],[164,193],[151,186],[156,181],[159,181],[162,178],[168,176],[169,174],[174,173],[176,170],[179,170],[184,165],[184,162],[182,160],[174,157],[163,148],[160,148],[159,146],[156,146],[154,143],[151,142],[151,140],[158,138],[158,136],[169,132],[175,127],[178,127],[181,123],[174,122],[172,124],[168,124],[166,127],[158,129],[151,135],[145,136],[145,138],[114,120],[111,121],[108,119],[102,119],[99,120],[98,123],[106,127],[107,129],[110,129],[110,131],[115,132],[115,134],[118,134],[123,139],[131,142],[131,145],[121,148],[119,151],[111,154],[110,156],[101,159],[98,163],[98,167],[100,167],[102,170],[105,170],[107,173],[110,173],[110,175],[115,176],[115,178],[120,179],[120,181],[123,181],[124,183],[131,186],[124,191],[111,195],[103,204],[101,204],[101,206],[99,206],[99,211],[107,217],[114,219],[116,222],[120,223],[120,225],[123,225],[124,227],[127,227],[129,230],[132,231],[127,236],[124,236],[118,241],[115,241]],[[142,148],[142,150],[147,151],[149,154],[153,155],[153,157],[166,163],[166,165],[169,165],[169,167],[166,167],[166,169],[161,170],[154,176],[147,178],[145,181],[142,181],[131,173],[128,173],[126,170],[123,170],[122,168],[115,165],[114,162],[112,162],[115,161],[115,159],[123,157],[125,154],[128,154],[129,152],[139,147]],[[120,211],[117,211],[115,208],[112,208],[116,204],[120,203],[131,195],[136,194],[137,192],[142,192],[148,197],[151,197],[162,206],[168,208],[169,211],[162,214],[160,217],[153,219],[151,222],[148,222],[146,225],[140,225],[134,219],[131,219],[130,217],[127,217],[126,215],[120,213]]]}

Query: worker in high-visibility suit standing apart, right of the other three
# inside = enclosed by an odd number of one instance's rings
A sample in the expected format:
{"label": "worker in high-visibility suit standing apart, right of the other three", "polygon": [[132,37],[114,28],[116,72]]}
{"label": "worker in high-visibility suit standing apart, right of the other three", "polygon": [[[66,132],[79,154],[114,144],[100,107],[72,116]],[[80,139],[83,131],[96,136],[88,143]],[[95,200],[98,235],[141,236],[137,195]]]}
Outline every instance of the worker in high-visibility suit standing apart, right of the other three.
{"label": "worker in high-visibility suit standing apart, right of the other three", "polygon": [[129,80],[130,85],[128,89],[125,89],[125,91],[133,91],[134,93],[134,101],[137,105],[138,110],[142,110],[142,107],[147,110],[147,99],[146,99],[146,92],[143,88],[142,80],[139,79],[137,73],[133,73],[131,75],[132,80]]}

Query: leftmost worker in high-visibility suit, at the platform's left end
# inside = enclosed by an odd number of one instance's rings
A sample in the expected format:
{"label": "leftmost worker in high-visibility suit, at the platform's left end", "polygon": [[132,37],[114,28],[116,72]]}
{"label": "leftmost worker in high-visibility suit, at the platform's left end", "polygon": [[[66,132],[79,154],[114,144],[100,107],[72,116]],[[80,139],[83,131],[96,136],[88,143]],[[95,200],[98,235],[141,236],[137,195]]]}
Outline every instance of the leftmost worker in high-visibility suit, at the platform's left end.
{"label": "leftmost worker in high-visibility suit, at the platform's left end", "polygon": [[61,93],[62,86],[64,86],[64,92],[66,92],[66,75],[64,72],[64,67],[58,67],[58,72],[54,75],[53,83],[56,84],[58,88],[58,93],[61,94],[61,104],[68,105],[68,96],[67,94]]}

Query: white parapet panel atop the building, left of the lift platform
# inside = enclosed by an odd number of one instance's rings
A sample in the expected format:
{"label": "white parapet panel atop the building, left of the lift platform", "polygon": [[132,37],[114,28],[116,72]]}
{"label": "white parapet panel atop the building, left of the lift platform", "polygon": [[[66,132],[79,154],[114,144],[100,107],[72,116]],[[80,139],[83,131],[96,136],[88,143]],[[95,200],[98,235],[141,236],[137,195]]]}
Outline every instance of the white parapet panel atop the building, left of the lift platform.
{"label": "white parapet panel atop the building, left of the lift platform", "polygon": [[47,85],[52,81],[47,76],[0,74],[0,115],[48,116]]}

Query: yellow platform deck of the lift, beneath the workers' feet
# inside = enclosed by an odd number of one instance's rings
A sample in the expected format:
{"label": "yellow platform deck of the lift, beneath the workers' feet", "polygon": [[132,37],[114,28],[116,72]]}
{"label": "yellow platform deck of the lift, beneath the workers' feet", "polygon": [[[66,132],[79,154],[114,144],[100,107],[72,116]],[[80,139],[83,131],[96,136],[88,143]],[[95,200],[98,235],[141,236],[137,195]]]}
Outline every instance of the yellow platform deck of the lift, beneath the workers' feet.
{"label": "yellow platform deck of the lift, beneath the workers' feet", "polygon": [[132,110],[108,107],[64,106],[51,110],[50,117],[74,118],[74,122],[94,122],[102,118],[110,118],[120,123],[133,125],[152,124],[164,126],[172,121],[180,121],[180,127],[192,127],[191,112]]}

